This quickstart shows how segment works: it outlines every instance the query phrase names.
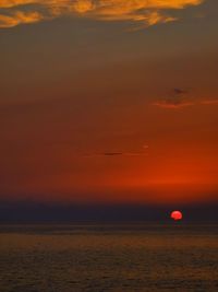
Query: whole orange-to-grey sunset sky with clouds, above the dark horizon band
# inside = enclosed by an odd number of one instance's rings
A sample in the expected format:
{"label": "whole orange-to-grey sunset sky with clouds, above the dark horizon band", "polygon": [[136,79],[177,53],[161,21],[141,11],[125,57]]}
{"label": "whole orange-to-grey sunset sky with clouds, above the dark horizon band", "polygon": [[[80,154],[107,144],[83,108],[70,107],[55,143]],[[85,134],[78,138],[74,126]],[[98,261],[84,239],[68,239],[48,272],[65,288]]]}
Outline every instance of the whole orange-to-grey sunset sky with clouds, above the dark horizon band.
{"label": "whole orange-to-grey sunset sky with clouds, above the dark horizon band", "polygon": [[0,200],[218,201],[217,0],[1,0]]}

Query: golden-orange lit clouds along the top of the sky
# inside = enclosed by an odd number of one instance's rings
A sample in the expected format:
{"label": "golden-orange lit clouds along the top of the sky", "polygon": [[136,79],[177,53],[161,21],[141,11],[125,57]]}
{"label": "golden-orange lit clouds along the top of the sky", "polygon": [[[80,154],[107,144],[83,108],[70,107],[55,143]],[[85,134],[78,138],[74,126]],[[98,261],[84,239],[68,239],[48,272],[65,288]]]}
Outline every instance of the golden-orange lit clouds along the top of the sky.
{"label": "golden-orange lit clouds along the top of the sky", "polygon": [[169,10],[198,5],[204,0],[1,0],[0,27],[35,23],[63,15],[99,21],[131,21],[145,26],[175,21]]}

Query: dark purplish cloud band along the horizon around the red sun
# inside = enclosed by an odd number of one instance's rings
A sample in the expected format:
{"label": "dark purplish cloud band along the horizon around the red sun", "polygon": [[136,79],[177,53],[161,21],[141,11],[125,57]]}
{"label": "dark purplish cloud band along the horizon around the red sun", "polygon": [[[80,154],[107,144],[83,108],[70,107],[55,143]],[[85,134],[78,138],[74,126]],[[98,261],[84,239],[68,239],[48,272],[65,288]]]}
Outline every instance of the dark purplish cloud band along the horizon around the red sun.
{"label": "dark purplish cloud band along the horizon around the red sun", "polygon": [[[39,203],[29,201],[0,201],[1,223],[41,223],[41,222],[132,222],[170,220],[171,210],[182,210],[185,222],[217,222],[217,202],[195,205],[75,205]],[[102,227],[102,226],[101,226]],[[114,226],[113,226],[114,227]],[[138,226],[138,229],[145,226]],[[181,226],[180,226],[181,227]],[[197,227],[197,225],[196,225]],[[209,226],[208,226],[209,227]],[[46,229],[46,226],[45,226]],[[64,229],[68,229],[65,225]],[[96,229],[96,226],[95,226]],[[117,226],[119,229],[119,226]],[[152,225],[154,230],[154,225]],[[13,231],[14,225],[1,224],[0,232]],[[29,226],[20,226],[20,232],[28,232]],[[102,231],[102,230],[101,230]],[[50,231],[51,232],[51,231]]]}

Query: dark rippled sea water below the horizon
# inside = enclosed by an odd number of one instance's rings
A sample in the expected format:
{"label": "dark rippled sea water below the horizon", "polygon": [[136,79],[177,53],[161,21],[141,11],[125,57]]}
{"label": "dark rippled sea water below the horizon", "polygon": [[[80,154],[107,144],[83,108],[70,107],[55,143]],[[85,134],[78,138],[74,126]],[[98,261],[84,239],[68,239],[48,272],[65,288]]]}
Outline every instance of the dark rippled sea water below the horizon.
{"label": "dark rippled sea water below the horizon", "polygon": [[216,292],[217,227],[1,225],[0,292]]}

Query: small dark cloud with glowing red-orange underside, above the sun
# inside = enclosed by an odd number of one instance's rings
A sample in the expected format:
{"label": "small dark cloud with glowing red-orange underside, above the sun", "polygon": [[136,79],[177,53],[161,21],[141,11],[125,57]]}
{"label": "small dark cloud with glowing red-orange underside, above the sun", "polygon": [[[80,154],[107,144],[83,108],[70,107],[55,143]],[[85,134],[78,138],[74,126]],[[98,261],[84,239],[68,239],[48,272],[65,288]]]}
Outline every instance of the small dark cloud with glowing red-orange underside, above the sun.
{"label": "small dark cloud with glowing red-orange underside, above the sun", "polygon": [[165,108],[180,108],[194,105],[189,96],[189,91],[182,89],[173,89],[172,93],[166,98],[153,103],[155,106]]}

